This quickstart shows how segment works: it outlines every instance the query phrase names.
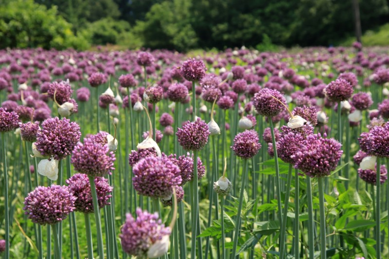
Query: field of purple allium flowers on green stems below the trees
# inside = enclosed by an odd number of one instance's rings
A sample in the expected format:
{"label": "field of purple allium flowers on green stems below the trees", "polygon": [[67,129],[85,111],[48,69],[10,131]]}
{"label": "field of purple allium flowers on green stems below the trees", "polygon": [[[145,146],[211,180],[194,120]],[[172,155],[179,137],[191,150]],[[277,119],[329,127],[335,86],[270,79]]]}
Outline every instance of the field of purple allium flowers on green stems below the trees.
{"label": "field of purple allium flowers on green stems below the trees", "polygon": [[0,256],[389,258],[388,96],[357,42],[0,50]]}

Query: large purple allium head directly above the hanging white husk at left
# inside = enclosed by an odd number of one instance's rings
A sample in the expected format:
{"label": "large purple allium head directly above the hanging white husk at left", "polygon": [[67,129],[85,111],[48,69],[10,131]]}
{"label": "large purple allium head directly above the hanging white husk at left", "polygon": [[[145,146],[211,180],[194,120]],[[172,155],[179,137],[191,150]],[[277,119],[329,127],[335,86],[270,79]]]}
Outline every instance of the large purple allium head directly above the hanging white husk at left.
{"label": "large purple allium head directly above the hanging white husk at left", "polygon": [[36,133],[36,150],[60,160],[71,154],[80,137],[80,126],[76,122],[50,118],[43,121],[42,129]]}

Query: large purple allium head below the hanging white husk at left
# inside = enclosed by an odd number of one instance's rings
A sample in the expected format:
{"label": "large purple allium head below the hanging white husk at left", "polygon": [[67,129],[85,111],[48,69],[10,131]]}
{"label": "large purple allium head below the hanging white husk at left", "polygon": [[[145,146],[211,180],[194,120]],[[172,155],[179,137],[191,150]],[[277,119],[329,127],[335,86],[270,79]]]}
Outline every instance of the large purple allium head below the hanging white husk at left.
{"label": "large purple allium head below the hanging white husk at left", "polygon": [[24,199],[24,214],[35,224],[53,225],[74,211],[76,199],[66,186],[38,186]]}

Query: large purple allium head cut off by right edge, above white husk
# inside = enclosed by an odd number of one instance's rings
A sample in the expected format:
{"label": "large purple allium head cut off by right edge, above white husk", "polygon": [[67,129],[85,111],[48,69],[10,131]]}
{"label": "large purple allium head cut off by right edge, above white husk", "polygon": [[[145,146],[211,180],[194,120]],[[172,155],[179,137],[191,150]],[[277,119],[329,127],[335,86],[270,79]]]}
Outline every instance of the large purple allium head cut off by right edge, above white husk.
{"label": "large purple allium head cut off by right edge, above white husk", "polygon": [[389,157],[389,122],[371,128],[366,138],[366,149],[369,155]]}

